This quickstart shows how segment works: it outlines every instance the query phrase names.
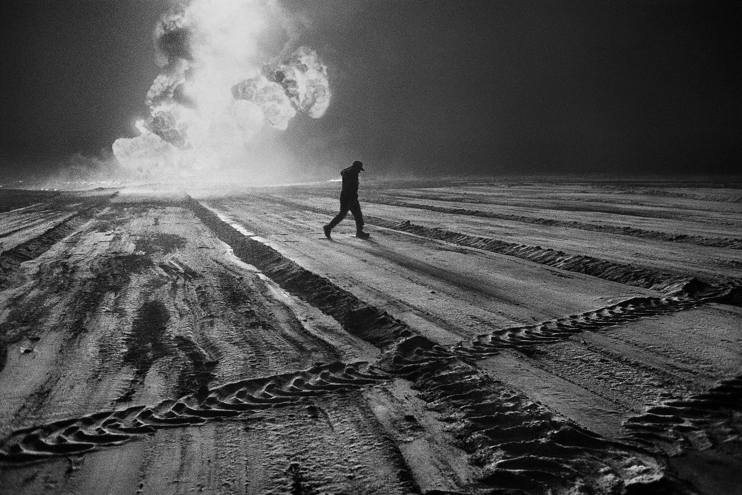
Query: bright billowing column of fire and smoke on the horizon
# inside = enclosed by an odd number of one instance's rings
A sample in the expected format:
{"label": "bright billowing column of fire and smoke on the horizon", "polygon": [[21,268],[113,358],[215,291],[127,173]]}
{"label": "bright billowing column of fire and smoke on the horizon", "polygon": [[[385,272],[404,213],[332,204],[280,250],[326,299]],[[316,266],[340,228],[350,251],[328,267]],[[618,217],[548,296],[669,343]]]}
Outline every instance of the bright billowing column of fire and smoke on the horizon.
{"label": "bright billowing column of fire and smoke on the horizon", "polygon": [[318,54],[301,46],[280,57],[261,44],[295,37],[275,32],[290,25],[284,21],[271,0],[191,0],[163,16],[154,30],[162,73],[145,98],[150,114],[137,122],[139,136],[114,142],[119,163],[188,174],[254,147],[265,128],[286,130],[298,113],[322,117],[330,91]]}

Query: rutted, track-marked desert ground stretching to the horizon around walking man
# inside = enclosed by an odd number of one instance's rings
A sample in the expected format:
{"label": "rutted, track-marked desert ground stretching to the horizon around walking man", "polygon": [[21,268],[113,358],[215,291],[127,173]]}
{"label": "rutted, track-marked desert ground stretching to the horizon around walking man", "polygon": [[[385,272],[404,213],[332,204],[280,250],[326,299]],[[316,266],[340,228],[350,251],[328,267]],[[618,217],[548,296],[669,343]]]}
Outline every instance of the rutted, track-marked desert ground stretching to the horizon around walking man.
{"label": "rutted, track-marked desert ground stretching to the horizon around walking man", "polygon": [[740,494],[742,180],[0,190],[3,494]]}

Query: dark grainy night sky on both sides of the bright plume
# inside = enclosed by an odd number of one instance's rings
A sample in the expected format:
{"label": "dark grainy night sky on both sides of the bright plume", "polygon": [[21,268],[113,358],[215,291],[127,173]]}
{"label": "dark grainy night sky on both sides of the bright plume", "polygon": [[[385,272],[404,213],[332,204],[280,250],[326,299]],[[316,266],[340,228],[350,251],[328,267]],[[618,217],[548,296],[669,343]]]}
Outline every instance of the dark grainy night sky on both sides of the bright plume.
{"label": "dark grainy night sky on both sides of the bright plume", "polygon": [[[741,8],[683,1],[283,1],[332,104],[280,140],[298,163],[395,174],[737,173]],[[131,137],[167,1],[2,7],[0,160]],[[30,164],[30,165],[28,165]]]}

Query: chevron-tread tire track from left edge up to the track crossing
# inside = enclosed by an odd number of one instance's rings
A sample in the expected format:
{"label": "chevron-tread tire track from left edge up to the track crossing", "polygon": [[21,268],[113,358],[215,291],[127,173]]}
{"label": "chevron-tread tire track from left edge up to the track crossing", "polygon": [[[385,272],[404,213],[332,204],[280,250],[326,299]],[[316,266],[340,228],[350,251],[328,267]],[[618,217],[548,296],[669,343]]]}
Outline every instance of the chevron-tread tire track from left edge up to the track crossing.
{"label": "chevron-tread tire track from left edge up to the track crossing", "polygon": [[0,462],[13,465],[69,456],[151,435],[168,427],[237,418],[326,393],[360,390],[389,379],[365,361],[321,364],[295,373],[224,384],[154,406],[102,411],[17,430],[0,441]]}

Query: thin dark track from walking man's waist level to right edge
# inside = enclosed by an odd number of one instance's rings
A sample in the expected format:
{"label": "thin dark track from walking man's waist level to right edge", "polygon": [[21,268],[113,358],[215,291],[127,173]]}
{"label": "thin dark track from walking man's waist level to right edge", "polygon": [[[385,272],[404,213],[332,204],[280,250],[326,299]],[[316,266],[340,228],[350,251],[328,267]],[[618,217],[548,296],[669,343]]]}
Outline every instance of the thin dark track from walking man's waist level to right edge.
{"label": "thin dark track from walking man's waist level to right edge", "polygon": [[701,235],[669,234],[656,230],[636,229],[633,227],[620,227],[614,225],[596,225],[594,223],[554,220],[551,218],[527,217],[524,215],[504,214],[494,212],[483,212],[482,210],[470,210],[464,208],[452,208],[444,206],[426,205],[421,203],[408,203],[407,201],[384,200],[380,197],[367,199],[368,203],[387,206],[402,206],[447,214],[461,214],[470,217],[496,218],[499,220],[511,220],[520,223],[531,223],[533,225],[548,225],[566,227],[568,229],[580,229],[588,232],[602,232],[608,234],[626,235],[628,237],[641,237],[646,239],[664,240],[674,243],[695,244],[697,246],[712,246],[727,249],[742,249],[742,239],[734,237],[703,237]]}

